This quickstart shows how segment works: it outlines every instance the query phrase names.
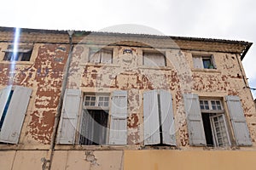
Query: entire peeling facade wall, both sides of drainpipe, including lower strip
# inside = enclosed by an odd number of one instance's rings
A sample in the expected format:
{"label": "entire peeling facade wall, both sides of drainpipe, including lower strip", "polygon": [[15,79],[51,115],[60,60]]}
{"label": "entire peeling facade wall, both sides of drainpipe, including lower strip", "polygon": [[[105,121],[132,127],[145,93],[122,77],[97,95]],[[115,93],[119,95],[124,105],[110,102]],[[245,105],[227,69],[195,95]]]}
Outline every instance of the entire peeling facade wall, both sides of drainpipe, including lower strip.
{"label": "entire peeling facade wall, both sides of drainpipe, including lower strip", "polygon": [[[32,97],[19,144],[0,144],[0,169],[44,169],[44,158],[49,159],[50,155],[49,144],[61,94],[63,70],[70,48],[67,44],[68,37],[63,33],[23,34],[20,42],[34,46],[32,59],[29,62],[16,62],[14,67],[9,61],[2,61],[3,50],[8,48],[10,43],[6,41],[12,41],[13,35],[4,34],[2,31],[0,37],[3,40],[0,42],[0,88],[9,84],[32,88]],[[169,41],[162,39],[145,41],[145,37],[125,37],[125,40],[129,41],[121,42],[122,38],[118,36],[83,38],[73,37],[75,43],[81,40],[84,42],[74,45],[67,88],[81,89],[84,93],[108,94],[116,89],[126,90],[128,145],[84,147],[78,144],[56,144],[52,169],[253,169],[256,111],[250,90],[244,88],[247,86],[247,82],[244,81],[246,77],[243,77],[244,71],[239,67],[240,57],[236,55],[243,48],[241,44],[183,40],[177,40],[177,44],[172,43],[173,47],[178,45],[180,50],[170,48]],[[158,43],[157,49],[166,54],[165,67],[143,65],[143,50],[150,48],[145,42]],[[112,64],[88,63],[89,48],[97,47],[94,44],[110,44],[108,48],[113,48]],[[218,48],[222,52],[217,52]],[[123,54],[124,49],[131,49],[132,54]],[[212,54],[217,69],[194,69],[192,54]],[[143,145],[143,92],[152,89],[166,89],[172,94],[177,129],[175,148]],[[184,93],[223,99],[225,111],[227,105],[224,96],[238,95],[241,98],[253,146],[221,149],[190,147],[183,106]]]}

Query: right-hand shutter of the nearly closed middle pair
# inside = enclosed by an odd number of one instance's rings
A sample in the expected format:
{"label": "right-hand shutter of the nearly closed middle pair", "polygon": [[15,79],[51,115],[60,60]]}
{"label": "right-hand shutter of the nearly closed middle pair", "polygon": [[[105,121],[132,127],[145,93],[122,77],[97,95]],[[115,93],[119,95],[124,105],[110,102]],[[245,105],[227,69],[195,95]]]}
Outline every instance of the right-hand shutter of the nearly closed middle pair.
{"label": "right-hand shutter of the nearly closed middle pair", "polygon": [[160,90],[160,120],[162,126],[163,144],[176,145],[172,110],[172,94],[165,90]]}

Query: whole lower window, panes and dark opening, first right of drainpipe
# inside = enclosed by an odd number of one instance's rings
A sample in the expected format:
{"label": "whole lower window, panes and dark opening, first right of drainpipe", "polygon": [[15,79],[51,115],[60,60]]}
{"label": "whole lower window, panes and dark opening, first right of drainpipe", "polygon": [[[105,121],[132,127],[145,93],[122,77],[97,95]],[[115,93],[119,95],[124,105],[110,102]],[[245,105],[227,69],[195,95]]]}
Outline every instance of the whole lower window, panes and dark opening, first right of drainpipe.
{"label": "whole lower window, panes and dark opening, first right of drainpipe", "polygon": [[79,144],[106,144],[108,112],[108,95],[84,95]]}

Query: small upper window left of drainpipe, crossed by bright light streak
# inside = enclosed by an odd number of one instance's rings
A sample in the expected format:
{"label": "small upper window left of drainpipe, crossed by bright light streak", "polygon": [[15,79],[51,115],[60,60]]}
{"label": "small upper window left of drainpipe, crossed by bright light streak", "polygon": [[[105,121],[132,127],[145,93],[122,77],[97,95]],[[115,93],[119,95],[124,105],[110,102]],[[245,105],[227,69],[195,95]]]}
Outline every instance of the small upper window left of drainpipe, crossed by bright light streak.
{"label": "small upper window left of drainpipe, crossed by bright light streak", "polygon": [[7,61],[29,61],[32,55],[32,47],[19,46],[15,52],[14,46],[9,45],[5,51],[3,60]]}

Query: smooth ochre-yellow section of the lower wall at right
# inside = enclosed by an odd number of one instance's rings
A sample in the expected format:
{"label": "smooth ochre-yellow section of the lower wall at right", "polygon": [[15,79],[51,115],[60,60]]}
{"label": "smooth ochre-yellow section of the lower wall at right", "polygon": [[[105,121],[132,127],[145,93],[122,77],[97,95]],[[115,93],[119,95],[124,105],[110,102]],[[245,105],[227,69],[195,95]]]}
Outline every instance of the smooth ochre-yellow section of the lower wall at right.
{"label": "smooth ochre-yellow section of the lower wall at right", "polygon": [[125,150],[125,170],[255,169],[256,151]]}

